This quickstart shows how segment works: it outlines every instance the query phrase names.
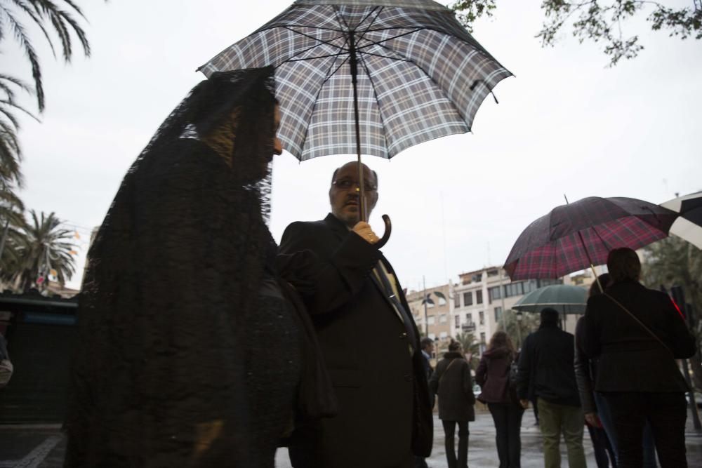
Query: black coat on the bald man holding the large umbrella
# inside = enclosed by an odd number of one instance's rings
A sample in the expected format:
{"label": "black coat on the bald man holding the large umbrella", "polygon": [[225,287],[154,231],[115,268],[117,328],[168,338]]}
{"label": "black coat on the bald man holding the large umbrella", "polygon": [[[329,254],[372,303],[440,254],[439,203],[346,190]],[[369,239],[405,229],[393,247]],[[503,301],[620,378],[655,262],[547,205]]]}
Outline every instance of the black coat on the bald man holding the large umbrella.
{"label": "black coat on the bald man holding the large umbrella", "polygon": [[[412,451],[430,455],[432,416],[419,343],[408,341],[403,322],[372,274],[378,260],[390,274],[392,267],[377,248],[331,214],[286,228],[281,253],[306,249],[318,262],[300,272],[300,278],[288,279],[295,286],[300,282],[339,414],[303,438],[306,448],[291,446],[291,456],[303,452],[317,466],[332,468],[390,467],[410,460]],[[418,337],[413,321],[409,325]]]}

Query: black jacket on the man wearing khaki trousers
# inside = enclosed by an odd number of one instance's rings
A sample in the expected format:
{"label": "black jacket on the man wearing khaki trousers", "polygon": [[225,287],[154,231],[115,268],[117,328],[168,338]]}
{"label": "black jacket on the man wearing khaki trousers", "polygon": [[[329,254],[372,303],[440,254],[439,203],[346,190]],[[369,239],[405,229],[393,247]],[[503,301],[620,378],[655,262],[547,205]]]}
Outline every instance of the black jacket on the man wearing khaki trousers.
{"label": "black jacket on the man wearing khaki trousers", "polygon": [[519,399],[542,398],[551,403],[580,406],[573,368],[575,340],[555,324],[541,324],[527,336],[519,355]]}

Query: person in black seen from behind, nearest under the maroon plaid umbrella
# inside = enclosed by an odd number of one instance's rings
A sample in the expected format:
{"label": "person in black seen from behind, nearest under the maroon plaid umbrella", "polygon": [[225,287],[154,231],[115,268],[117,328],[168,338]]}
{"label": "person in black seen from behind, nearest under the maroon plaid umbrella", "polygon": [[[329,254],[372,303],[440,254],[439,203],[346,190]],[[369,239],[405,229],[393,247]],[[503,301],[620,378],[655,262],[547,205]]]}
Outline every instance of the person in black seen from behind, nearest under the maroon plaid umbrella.
{"label": "person in black seen from behind, nearest under the maroon plaid umbrella", "polygon": [[688,387],[675,359],[692,356],[695,339],[670,297],[639,283],[634,250],[611,250],[607,269],[611,285],[588,299],[581,346],[597,359],[595,392],[614,422],[618,467],[642,466],[648,422],[661,467],[685,468]]}

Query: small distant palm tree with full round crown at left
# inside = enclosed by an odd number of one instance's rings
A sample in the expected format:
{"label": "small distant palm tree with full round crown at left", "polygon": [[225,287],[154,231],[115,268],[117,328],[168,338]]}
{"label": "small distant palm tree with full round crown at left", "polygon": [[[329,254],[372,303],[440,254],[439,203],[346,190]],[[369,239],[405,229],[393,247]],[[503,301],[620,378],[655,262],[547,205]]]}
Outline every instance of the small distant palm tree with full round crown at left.
{"label": "small distant palm tree with full round crown at left", "polygon": [[[54,213],[47,216],[42,212],[41,218],[37,217],[34,210],[29,213],[32,222],[27,223],[24,239],[18,246],[21,260],[15,281],[18,281],[22,290],[28,290],[34,285],[44,289],[44,280],[51,272],[55,274],[58,283],[64,286],[76,272],[73,258],[75,245],[68,241],[73,236],[72,231],[62,229],[61,222]],[[38,281],[39,278],[42,280]]]}

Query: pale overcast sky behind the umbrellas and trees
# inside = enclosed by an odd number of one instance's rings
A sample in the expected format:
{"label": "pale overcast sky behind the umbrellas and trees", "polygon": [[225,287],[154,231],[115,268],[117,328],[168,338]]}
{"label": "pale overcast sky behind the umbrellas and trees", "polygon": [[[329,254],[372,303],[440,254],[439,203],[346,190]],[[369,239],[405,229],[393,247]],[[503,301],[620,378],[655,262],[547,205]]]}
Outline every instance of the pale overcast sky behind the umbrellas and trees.
{"label": "pale overcast sky behind the umbrellas and trees", "polygon": [[[195,69],[284,10],[289,0],[80,1],[93,56],[70,65],[41,53],[47,96],[42,123],[23,119],[27,208],[55,212],[81,236],[100,225],[124,173],[161,121],[195,83]],[[675,2],[674,2],[675,3]],[[677,2],[680,3],[680,2]],[[687,5],[690,2],[682,2]],[[378,172],[371,225],[393,235],[383,252],[403,286],[457,279],[502,265],[529,222],[585,196],[661,203],[702,189],[702,42],[630,26],[646,48],[607,68],[600,44],[566,31],[555,48],[534,35],[541,1],[501,0],[474,36],[515,74],[477,112],[472,133],[418,145],[391,161],[367,156]],[[4,41],[3,69],[29,78],[29,65]],[[25,105],[34,107],[27,98]],[[334,168],[353,156],[299,163],[274,159],[271,232],[329,210]],[[197,274],[197,272],[193,272]]]}

